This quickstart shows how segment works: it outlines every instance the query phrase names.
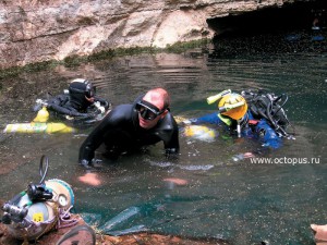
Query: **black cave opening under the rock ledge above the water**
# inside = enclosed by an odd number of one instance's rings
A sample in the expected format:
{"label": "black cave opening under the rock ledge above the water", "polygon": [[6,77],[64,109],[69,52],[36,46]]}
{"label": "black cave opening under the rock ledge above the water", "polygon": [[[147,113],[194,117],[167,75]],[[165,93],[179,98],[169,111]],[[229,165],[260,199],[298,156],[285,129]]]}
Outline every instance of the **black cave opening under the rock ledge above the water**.
{"label": "black cave opening under the rock ledge above the water", "polygon": [[326,0],[288,3],[281,8],[230,14],[207,20],[207,23],[216,35],[226,33],[242,35],[311,29],[315,19],[318,20],[320,27],[327,27]]}

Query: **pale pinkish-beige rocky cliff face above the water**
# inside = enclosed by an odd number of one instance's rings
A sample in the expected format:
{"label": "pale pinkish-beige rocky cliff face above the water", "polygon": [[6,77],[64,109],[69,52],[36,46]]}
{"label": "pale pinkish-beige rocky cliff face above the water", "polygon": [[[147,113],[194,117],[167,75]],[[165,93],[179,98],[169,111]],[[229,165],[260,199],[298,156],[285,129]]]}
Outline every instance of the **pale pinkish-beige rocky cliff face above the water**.
{"label": "pale pinkish-beige rocky cliff face above the water", "polygon": [[207,20],[305,0],[0,0],[0,69],[211,38]]}

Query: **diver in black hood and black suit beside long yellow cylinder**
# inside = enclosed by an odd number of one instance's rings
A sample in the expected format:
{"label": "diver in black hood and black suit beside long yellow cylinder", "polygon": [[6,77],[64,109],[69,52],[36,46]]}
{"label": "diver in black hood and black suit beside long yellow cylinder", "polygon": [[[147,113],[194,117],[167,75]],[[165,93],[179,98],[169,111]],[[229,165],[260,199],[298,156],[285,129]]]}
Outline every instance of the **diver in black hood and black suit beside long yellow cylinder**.
{"label": "diver in black hood and black suit beside long yellow cylinder", "polygon": [[107,100],[97,97],[93,84],[83,78],[73,79],[66,93],[36,102],[34,111],[44,107],[57,117],[87,123],[101,120],[110,106]]}

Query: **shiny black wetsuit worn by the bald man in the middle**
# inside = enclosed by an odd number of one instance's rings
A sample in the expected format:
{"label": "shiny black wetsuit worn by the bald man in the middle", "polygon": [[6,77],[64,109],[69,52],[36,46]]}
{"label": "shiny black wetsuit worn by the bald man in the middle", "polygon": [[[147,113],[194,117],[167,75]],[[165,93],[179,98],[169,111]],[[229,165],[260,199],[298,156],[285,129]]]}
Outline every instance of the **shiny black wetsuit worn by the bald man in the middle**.
{"label": "shiny black wetsuit worn by the bald man in the middle", "polygon": [[78,161],[89,162],[95,150],[105,144],[108,151],[121,154],[164,142],[166,152],[179,151],[179,130],[173,117],[168,112],[157,125],[145,130],[138,124],[138,112],[133,105],[116,107],[88,135],[80,148]]}

